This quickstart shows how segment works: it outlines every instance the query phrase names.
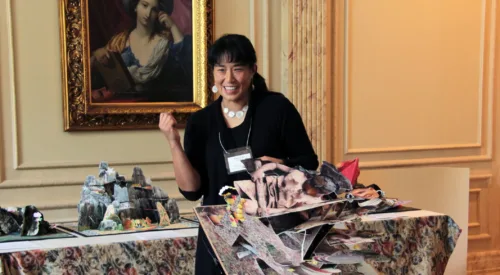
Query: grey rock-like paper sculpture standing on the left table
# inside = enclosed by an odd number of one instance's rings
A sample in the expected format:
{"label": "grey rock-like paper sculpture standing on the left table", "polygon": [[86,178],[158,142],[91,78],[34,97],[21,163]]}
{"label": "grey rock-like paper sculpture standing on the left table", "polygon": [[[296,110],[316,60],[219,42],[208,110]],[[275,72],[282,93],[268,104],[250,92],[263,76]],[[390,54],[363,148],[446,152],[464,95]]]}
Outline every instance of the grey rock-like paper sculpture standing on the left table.
{"label": "grey rock-like paper sculpture standing on the left table", "polygon": [[140,167],[126,180],[107,162],[99,164],[98,177],[85,179],[78,204],[78,230],[147,229],[180,222],[174,198],[151,184]]}

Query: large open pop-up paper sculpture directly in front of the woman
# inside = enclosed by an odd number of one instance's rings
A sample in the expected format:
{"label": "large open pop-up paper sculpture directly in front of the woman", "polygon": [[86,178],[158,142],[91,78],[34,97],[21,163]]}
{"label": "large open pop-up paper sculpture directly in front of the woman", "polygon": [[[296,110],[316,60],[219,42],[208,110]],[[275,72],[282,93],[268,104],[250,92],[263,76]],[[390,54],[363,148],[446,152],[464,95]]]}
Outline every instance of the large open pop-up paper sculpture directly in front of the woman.
{"label": "large open pop-up paper sculpture directly in front of the woman", "polygon": [[[195,208],[226,274],[380,274],[384,268],[397,268],[399,261],[415,261],[407,255],[403,260],[392,257],[402,241],[394,239],[394,222],[381,221],[373,228],[361,222],[369,213],[401,211],[406,202],[353,196],[353,188],[362,186],[357,183],[357,159],[342,165],[347,176],[327,162],[319,171],[258,159],[243,163],[251,180],[222,188],[219,195],[226,205]],[[347,166],[352,167],[345,170]],[[460,229],[446,216],[436,223],[448,232],[441,244],[451,248],[437,250],[439,264],[446,265]],[[414,238],[412,231],[404,233]],[[422,261],[412,268],[429,266]]]}

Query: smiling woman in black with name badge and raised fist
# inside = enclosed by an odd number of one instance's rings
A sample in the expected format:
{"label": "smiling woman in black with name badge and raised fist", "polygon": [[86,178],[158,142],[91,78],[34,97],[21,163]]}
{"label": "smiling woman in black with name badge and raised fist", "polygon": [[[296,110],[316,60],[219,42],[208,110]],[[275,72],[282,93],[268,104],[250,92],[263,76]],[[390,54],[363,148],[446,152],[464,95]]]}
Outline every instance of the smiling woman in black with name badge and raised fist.
{"label": "smiling woman in black with name badge and raised fist", "polygon": [[[212,90],[221,96],[188,119],[184,150],[174,117],[168,113],[160,116],[159,127],[170,144],[177,184],[184,197],[196,201],[203,196],[203,205],[225,204],[219,190],[234,186],[234,181],[250,179],[244,166],[241,170],[231,161],[235,154],[309,170],[318,167],[298,111],[282,94],[268,90],[257,73],[257,57],[248,38],[222,36],[212,45],[208,62],[214,75]],[[200,229],[196,273],[220,274],[220,270]]]}

